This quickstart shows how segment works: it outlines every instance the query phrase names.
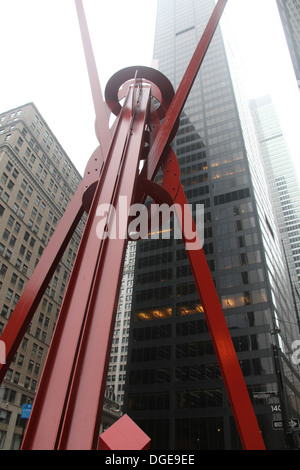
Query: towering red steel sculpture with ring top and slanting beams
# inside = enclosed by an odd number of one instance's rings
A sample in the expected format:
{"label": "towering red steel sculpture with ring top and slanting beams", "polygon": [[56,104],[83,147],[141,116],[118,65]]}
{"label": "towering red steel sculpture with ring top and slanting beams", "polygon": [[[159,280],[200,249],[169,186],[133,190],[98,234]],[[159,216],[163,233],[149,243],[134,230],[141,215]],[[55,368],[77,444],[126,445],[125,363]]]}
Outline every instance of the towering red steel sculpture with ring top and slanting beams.
{"label": "towering red steel sculpture with ring top and slanting beams", "polygon": [[[6,364],[0,366],[1,383],[61,256],[86,212],[85,230],[27,425],[23,450],[98,448],[128,237],[127,226],[119,227],[123,232],[118,239],[107,236],[108,227],[117,223],[114,211],[107,214],[99,236],[97,208],[106,203],[118,212],[121,196],[126,196],[128,210],[131,204],[144,203],[148,196],[157,203],[187,207],[177,157],[170,143],[227,0],[218,1],[176,94],[169,80],[157,70],[129,67],[109,80],[105,100],[82,0],[75,2],[100,145],[91,156],[84,178],[0,338],[7,351]],[[107,108],[117,116],[111,129]],[[161,185],[154,182],[159,170],[163,172]],[[191,213],[189,217],[195,232],[194,241],[200,242]],[[180,218],[179,221],[187,244],[191,240]],[[242,445],[246,450],[263,450],[264,442],[204,252],[202,248],[187,250],[187,255]]]}

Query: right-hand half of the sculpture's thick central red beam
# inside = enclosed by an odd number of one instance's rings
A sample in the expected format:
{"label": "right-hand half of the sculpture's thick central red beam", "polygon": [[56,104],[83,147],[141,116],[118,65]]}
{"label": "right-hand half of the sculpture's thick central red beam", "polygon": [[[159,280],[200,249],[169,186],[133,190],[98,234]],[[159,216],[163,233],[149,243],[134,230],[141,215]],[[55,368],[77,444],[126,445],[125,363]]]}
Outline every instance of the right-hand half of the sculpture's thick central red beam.
{"label": "right-hand half of the sculpture's thick central red beam", "polygon": [[[134,96],[133,91],[131,95]],[[131,101],[130,95],[129,99]],[[122,213],[120,197],[126,196],[127,210],[133,201],[149,100],[150,87],[143,86],[139,112],[131,128],[124,165],[114,195],[113,206],[117,214]],[[106,246],[99,257],[58,449],[96,449],[98,445],[114,319],[127,245],[127,217],[125,221],[121,237],[106,240]]]}

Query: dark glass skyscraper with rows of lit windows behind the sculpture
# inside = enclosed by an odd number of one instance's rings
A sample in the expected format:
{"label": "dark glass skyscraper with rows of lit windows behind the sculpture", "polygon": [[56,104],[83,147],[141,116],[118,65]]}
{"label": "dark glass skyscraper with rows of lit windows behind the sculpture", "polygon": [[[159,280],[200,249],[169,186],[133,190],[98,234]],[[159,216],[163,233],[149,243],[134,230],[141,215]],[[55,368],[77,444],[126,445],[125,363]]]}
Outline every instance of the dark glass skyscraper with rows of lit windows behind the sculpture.
{"label": "dark glass skyscraper with rows of lit windows behind the sculpture", "polygon": [[[158,1],[154,59],[175,88],[214,6]],[[295,312],[258,142],[239,109],[218,28],[174,150],[189,202],[205,206],[204,251],[262,435],[279,449],[300,417]],[[180,240],[137,244],[125,411],[153,449],[240,448]]]}

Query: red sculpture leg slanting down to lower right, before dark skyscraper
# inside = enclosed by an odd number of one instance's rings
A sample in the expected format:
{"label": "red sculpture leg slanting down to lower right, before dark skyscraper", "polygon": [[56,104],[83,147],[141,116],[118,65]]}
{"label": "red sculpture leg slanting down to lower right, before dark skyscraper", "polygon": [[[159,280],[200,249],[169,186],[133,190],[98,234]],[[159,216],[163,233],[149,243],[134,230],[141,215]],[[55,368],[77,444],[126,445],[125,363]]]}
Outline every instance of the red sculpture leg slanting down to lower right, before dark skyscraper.
{"label": "red sculpture leg slanting down to lower right, before dark skyscraper", "polygon": [[[245,450],[264,450],[265,445],[253,410],[226,319],[219,301],[201,240],[179,178],[180,169],[173,150],[165,151],[162,186],[148,182],[148,194],[159,204],[173,206],[182,239],[201,299],[237,429]],[[147,181],[147,180],[146,180]],[[144,187],[146,186],[143,180]],[[150,191],[150,192],[149,192]],[[190,239],[192,237],[192,239]]]}

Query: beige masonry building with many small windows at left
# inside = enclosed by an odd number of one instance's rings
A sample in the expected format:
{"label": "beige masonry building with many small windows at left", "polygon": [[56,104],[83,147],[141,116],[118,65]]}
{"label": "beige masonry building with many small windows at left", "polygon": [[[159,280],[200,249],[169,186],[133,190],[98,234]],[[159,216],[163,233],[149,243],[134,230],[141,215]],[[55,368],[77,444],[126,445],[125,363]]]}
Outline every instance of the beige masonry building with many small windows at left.
{"label": "beige masonry building with many small windows at left", "polygon": [[[0,114],[0,333],[81,176],[33,103]],[[0,449],[18,449],[83,221],[53,275],[3,382]]]}

